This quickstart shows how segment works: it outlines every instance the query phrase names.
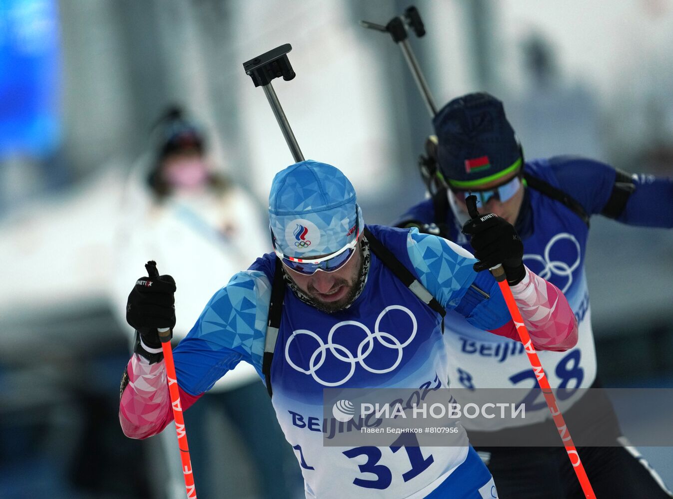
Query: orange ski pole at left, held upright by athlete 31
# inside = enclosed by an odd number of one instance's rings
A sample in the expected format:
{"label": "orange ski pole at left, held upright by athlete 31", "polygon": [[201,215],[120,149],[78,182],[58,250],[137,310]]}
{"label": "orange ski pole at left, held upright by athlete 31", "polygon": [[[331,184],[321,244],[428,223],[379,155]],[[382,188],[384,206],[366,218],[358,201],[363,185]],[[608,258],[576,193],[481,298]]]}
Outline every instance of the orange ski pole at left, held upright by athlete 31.
{"label": "orange ski pole at left, held upright by athlete 31", "polygon": [[[155,262],[147,262],[147,275],[149,277],[158,277]],[[184,475],[184,486],[188,499],[197,499],[197,488],[194,486],[194,473],[192,472],[192,461],[189,457],[189,446],[187,445],[187,431],[184,428],[184,417],[182,416],[182,404],[180,404],[180,391],[178,391],[178,377],[175,375],[175,362],[173,362],[173,350],[171,350],[170,340],[172,337],[170,328],[157,328],[159,339],[162,342],[164,350],[164,362],[166,363],[166,377],[168,378],[168,391],[170,393],[171,406],[173,408],[173,417],[175,419],[176,433],[178,434],[178,447],[180,448],[180,460],[182,461],[182,474]]]}

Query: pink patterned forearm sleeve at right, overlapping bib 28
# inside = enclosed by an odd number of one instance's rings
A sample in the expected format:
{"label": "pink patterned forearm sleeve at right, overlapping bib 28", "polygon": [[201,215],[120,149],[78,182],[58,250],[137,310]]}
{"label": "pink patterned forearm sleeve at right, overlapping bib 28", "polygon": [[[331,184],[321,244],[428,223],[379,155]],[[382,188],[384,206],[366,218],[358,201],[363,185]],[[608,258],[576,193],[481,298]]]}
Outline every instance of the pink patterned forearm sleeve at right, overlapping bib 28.
{"label": "pink patterned forearm sleeve at right, overlapping bib 28", "polygon": [[[526,267],[526,277],[510,289],[536,350],[564,352],[577,344],[575,314],[554,284]],[[519,341],[513,321],[491,332]]]}

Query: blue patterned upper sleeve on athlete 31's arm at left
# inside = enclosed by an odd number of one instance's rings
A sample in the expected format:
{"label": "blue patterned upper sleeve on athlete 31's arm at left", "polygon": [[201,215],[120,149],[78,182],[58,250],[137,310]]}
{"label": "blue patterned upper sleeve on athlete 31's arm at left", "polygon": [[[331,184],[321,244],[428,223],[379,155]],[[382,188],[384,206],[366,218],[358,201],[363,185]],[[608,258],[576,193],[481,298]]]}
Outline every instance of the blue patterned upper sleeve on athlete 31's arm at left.
{"label": "blue patterned upper sleeve on athlete 31's arm at left", "polygon": [[[258,270],[238,272],[217,291],[173,351],[180,387],[199,395],[244,360],[262,376],[271,284]],[[178,305],[179,307],[179,305]],[[179,313],[179,309],[178,309]]]}

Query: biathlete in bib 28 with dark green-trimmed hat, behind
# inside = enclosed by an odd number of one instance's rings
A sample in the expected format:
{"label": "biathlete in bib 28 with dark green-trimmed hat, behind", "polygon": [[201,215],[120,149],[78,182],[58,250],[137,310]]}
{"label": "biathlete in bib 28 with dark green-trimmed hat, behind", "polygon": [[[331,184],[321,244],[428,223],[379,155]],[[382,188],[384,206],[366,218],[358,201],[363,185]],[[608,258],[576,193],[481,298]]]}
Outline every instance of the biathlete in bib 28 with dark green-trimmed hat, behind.
{"label": "biathlete in bib 28 with dark green-trimmed hat, behind", "polygon": [[[600,388],[591,327],[589,293],[584,272],[589,219],[603,215],[643,227],[673,227],[673,181],[651,175],[630,175],[593,159],[557,156],[525,161],[523,149],[505,116],[502,102],[488,93],[470,93],[450,101],[433,120],[436,136],[426,144],[421,174],[431,198],[398,219],[398,227],[418,227],[470,250],[461,232],[469,218],[466,196],[479,199],[480,213],[495,213],[512,223],[524,242],[524,262],[566,295],[579,323],[579,341],[569,352],[540,352],[552,387],[561,389],[566,421],[586,414]],[[637,258],[637,256],[634,256]],[[484,334],[460,318],[444,335],[456,387],[463,399],[481,388],[536,386],[523,350],[512,340]],[[458,325],[458,327],[456,327]],[[494,352],[509,352],[495,354]],[[565,391],[563,391],[565,389]],[[540,402],[539,391],[532,391]],[[559,397],[561,395],[558,395]],[[522,441],[532,430],[556,435],[546,404],[527,406],[532,426],[493,428],[464,420],[470,440],[489,467],[503,499],[584,497],[563,447],[494,447],[479,442]],[[596,406],[592,406],[595,408]],[[572,408],[564,410],[564,408]],[[583,411],[585,410],[585,411]],[[579,416],[577,416],[579,417]],[[669,498],[670,492],[638,451],[623,436],[610,402],[580,429],[601,428],[614,447],[580,447],[579,457],[599,498]],[[575,435],[569,422],[569,428]],[[582,428],[582,425],[586,425]],[[608,445],[608,444],[603,444]]]}

